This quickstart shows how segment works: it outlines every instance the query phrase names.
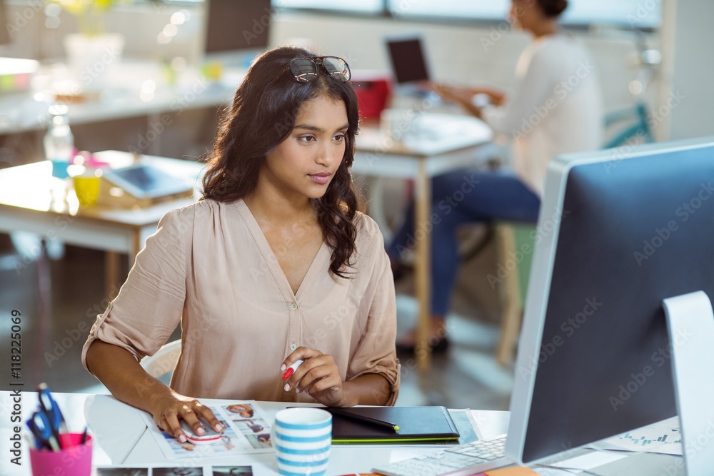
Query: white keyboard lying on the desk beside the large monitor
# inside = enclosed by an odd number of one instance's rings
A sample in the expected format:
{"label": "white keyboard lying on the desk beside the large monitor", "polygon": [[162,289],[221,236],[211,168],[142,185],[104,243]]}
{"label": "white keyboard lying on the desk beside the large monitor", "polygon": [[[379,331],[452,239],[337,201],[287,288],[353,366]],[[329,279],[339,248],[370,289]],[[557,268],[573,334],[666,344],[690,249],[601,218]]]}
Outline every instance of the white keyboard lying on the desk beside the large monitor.
{"label": "white keyboard lying on the desk beside the large monitor", "polygon": [[511,464],[504,456],[506,437],[427,452],[424,455],[375,467],[386,476],[466,476]]}

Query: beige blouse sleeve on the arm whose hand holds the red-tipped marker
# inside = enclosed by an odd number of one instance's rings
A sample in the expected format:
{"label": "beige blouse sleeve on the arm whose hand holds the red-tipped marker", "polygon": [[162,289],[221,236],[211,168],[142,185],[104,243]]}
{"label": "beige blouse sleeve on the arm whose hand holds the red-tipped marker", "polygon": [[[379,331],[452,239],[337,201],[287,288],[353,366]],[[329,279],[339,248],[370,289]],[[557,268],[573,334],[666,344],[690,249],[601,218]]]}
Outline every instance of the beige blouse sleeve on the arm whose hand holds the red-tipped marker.
{"label": "beige blouse sleeve on the arm whose hand holds the red-tipped marker", "polygon": [[[366,325],[356,349],[351,355],[347,379],[376,373],[383,375],[390,385],[386,405],[394,405],[399,393],[401,365],[396,357],[396,298],[389,258],[376,223],[365,218],[363,226],[371,239],[361,253],[373,255],[371,278],[360,303],[360,313],[366,314]],[[361,258],[364,258],[362,256]],[[366,271],[366,270],[361,270]]]}

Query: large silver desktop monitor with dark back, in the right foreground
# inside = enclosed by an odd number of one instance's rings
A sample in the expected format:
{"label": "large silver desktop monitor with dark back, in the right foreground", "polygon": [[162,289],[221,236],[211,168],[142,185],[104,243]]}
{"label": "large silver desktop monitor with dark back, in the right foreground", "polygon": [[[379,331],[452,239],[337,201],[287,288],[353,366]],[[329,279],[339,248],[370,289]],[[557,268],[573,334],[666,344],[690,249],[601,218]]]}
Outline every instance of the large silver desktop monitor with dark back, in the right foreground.
{"label": "large silver desktop monitor with dark back, in the right foreground", "polygon": [[[713,237],[714,138],[553,159],[515,368],[511,459],[528,465],[679,414],[688,474],[710,474]],[[680,313],[697,291],[700,310]]]}

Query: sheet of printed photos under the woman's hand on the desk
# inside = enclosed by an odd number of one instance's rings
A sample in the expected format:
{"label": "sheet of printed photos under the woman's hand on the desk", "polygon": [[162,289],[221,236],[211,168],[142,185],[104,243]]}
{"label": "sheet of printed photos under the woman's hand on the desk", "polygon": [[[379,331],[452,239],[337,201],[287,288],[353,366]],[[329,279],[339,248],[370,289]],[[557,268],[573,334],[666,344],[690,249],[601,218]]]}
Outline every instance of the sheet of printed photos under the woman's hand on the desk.
{"label": "sheet of printed photos under the woman's hand on the desk", "polygon": [[[149,413],[141,412],[151,436],[169,459],[183,457],[213,457],[263,453],[273,451],[270,437],[270,420],[254,400],[233,401],[227,405],[209,406],[219,421],[226,425],[221,440],[210,444],[195,445],[179,442],[162,431]],[[185,469],[185,468],[184,468]],[[199,468],[200,469],[200,468]],[[154,473],[163,475],[164,473]],[[166,473],[173,475],[174,473]],[[189,473],[193,476],[193,473]],[[197,473],[201,475],[201,473]],[[242,473],[238,473],[242,474]],[[104,476],[104,475],[101,475]]]}

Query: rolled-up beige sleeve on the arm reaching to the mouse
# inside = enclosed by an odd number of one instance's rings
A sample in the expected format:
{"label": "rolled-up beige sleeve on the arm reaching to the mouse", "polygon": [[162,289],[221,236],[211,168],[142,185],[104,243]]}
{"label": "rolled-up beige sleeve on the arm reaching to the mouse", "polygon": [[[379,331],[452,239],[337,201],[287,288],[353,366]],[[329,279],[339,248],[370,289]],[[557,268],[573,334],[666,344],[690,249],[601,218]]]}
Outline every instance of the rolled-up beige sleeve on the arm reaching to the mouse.
{"label": "rolled-up beige sleeve on the arm reaching to the mouse", "polygon": [[82,364],[94,340],[118,345],[136,360],[153,355],[181,320],[186,300],[186,236],[191,211],[166,213],[136,255],[119,295],[98,315],[82,349]]}

